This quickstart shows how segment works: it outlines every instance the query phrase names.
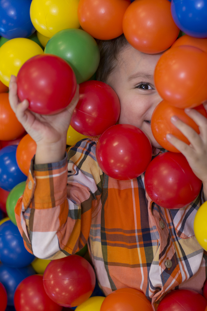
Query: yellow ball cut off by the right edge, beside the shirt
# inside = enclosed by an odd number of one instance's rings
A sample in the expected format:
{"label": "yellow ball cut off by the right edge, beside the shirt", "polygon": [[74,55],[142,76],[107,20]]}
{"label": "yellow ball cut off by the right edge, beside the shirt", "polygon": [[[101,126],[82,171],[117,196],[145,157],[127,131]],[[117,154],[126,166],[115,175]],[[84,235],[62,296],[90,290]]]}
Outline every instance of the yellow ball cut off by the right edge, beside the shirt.
{"label": "yellow ball cut off by the right edge, beside the shirt", "polygon": [[200,206],[196,213],[194,232],[200,246],[207,251],[207,201]]}

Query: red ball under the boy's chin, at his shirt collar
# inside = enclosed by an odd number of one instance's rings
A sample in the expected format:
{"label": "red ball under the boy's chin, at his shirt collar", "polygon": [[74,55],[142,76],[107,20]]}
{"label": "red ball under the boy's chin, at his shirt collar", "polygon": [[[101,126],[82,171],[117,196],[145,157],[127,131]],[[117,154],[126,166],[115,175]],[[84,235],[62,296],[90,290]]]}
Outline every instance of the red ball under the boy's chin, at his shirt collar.
{"label": "red ball under the boy's chin, at his shirt collar", "polygon": [[152,146],[144,132],[134,125],[117,124],[99,138],[96,148],[98,165],[118,180],[137,178],[152,158]]}

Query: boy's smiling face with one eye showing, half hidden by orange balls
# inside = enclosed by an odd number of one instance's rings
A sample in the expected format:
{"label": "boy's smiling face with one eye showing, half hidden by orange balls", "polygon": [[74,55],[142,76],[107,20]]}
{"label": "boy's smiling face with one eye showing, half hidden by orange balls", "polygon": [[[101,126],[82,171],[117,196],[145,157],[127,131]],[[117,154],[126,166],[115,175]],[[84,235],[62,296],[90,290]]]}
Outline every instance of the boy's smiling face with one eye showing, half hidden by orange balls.
{"label": "boy's smiling face with one eye showing, half hidden by orange balls", "polygon": [[132,124],[140,128],[150,139],[152,146],[162,148],[151,131],[151,116],[162,98],[154,83],[155,66],[160,54],[144,54],[128,45],[118,55],[118,65],[108,77],[107,83],[119,96],[121,104],[120,124]]}

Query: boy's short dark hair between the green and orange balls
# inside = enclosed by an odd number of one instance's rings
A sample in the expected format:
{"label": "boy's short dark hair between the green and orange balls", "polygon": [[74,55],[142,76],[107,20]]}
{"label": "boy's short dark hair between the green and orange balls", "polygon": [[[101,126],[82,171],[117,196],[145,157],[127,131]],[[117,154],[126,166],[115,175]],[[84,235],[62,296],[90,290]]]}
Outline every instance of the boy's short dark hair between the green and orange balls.
{"label": "boy's short dark hair between the green and orange balls", "polygon": [[115,39],[96,41],[100,50],[100,63],[96,72],[96,79],[106,83],[108,76],[117,64],[117,55],[129,43],[124,34]]}

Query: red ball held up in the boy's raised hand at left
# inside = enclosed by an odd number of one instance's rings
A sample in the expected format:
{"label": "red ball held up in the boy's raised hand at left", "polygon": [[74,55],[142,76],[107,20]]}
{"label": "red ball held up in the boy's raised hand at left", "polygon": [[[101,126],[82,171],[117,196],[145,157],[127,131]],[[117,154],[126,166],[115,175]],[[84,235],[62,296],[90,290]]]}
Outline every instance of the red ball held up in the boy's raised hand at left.
{"label": "red ball held up in the boy's raised hand at left", "polygon": [[18,96],[38,114],[55,114],[67,107],[76,91],[73,70],[62,58],[42,54],[30,58],[17,75]]}

